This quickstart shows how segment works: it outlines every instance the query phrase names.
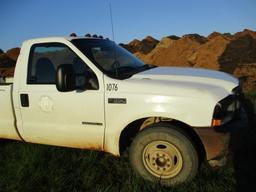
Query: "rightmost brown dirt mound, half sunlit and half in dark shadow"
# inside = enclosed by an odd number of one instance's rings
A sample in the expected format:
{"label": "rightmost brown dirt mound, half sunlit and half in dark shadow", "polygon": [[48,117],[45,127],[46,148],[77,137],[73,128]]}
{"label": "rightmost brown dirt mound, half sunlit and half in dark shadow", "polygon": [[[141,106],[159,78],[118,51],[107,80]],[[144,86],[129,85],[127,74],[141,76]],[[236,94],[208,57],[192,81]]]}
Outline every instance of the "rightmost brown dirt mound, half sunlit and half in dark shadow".
{"label": "rightmost brown dirt mound, half sunlit and half in dark shadow", "polygon": [[250,34],[233,38],[222,34],[208,37],[192,57],[194,67],[221,70],[233,74],[240,65],[256,62],[256,41]]}

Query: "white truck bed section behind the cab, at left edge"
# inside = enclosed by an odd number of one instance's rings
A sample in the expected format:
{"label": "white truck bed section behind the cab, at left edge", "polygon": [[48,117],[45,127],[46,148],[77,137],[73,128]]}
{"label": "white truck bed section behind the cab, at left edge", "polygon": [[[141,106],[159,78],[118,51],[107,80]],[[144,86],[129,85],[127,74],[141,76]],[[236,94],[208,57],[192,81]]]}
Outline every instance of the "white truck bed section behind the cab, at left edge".
{"label": "white truck bed section behind the cab, at left edge", "polygon": [[0,138],[20,140],[15,128],[12,84],[0,84]]}

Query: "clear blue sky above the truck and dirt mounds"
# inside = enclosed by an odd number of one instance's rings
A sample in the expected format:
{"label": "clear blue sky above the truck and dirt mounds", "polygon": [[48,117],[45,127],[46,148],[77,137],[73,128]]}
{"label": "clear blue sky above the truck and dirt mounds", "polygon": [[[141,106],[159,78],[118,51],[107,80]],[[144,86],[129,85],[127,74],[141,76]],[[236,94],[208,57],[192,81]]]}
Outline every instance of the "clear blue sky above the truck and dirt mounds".
{"label": "clear blue sky above the truck and dirt mounds", "polygon": [[147,35],[256,30],[256,0],[1,0],[0,48],[72,32],[112,39],[110,2],[117,43]]}

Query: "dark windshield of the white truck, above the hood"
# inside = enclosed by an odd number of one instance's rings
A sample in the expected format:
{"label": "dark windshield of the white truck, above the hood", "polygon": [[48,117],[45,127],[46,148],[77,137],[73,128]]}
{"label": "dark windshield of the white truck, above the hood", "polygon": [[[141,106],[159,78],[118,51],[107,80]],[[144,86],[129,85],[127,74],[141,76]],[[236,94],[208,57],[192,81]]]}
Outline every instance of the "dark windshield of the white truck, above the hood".
{"label": "dark windshield of the white truck, above the hood", "polygon": [[128,78],[135,73],[149,69],[141,60],[105,39],[73,39],[71,41],[101,71],[115,78]]}

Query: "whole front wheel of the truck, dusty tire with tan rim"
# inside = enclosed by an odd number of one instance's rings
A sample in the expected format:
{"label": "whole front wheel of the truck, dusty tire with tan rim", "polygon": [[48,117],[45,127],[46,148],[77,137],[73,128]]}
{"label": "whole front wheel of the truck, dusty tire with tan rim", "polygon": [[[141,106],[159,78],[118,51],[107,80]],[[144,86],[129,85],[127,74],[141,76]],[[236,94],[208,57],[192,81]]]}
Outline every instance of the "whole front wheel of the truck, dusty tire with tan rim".
{"label": "whole front wheel of the truck, dusty tire with tan rim", "polygon": [[131,144],[129,157],[140,176],[166,186],[189,181],[198,170],[198,153],[191,139],[166,123],[141,131]]}

